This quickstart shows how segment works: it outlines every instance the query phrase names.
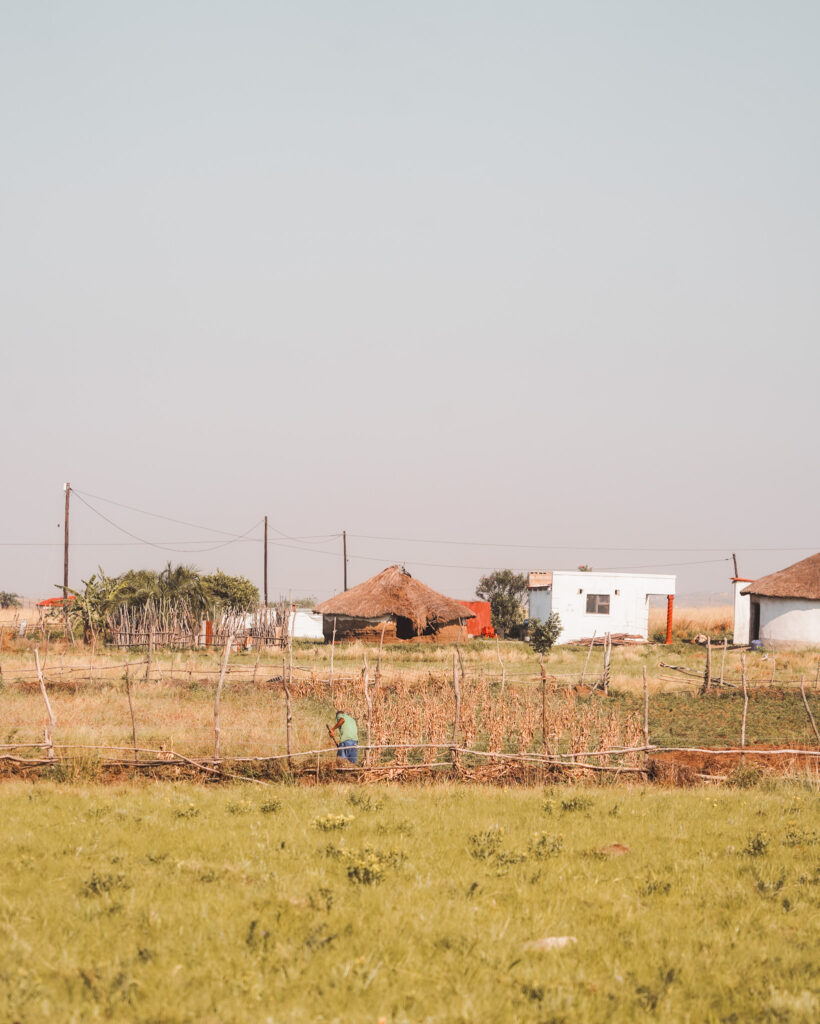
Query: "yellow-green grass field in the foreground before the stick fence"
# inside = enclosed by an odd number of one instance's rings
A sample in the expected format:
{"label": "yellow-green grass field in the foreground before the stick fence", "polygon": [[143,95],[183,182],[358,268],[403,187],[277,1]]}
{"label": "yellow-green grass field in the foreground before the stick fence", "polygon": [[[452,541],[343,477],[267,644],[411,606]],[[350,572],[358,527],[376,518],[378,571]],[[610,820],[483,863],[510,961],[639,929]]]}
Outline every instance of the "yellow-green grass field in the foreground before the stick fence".
{"label": "yellow-green grass field in the foreground before the stick fence", "polygon": [[2,800],[2,1021],[820,1018],[808,780]]}

